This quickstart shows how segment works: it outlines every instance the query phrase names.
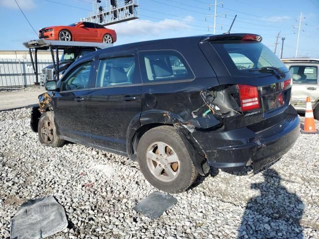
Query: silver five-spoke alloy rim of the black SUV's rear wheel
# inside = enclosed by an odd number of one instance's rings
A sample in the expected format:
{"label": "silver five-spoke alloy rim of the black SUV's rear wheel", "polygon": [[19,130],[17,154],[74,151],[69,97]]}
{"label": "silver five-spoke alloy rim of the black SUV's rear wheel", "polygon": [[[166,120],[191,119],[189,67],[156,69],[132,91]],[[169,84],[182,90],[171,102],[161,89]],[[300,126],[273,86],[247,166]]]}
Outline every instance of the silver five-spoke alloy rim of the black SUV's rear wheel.
{"label": "silver five-spoke alloy rim of the black SUV's rear wheel", "polygon": [[147,150],[147,164],[151,173],[160,181],[173,181],[180,169],[175,151],[163,142],[153,143]]}

